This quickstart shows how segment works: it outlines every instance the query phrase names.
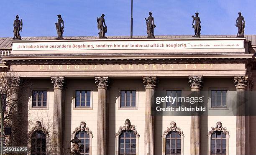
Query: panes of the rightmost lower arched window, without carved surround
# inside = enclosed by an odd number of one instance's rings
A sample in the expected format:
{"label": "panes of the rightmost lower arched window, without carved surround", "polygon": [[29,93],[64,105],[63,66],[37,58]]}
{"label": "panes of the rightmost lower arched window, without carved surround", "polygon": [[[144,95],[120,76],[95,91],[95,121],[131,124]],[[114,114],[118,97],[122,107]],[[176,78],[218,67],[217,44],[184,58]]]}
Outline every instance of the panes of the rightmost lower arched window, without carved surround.
{"label": "panes of the rightmost lower arched window, without carved surround", "polygon": [[226,135],[215,131],[211,135],[211,155],[226,155]]}

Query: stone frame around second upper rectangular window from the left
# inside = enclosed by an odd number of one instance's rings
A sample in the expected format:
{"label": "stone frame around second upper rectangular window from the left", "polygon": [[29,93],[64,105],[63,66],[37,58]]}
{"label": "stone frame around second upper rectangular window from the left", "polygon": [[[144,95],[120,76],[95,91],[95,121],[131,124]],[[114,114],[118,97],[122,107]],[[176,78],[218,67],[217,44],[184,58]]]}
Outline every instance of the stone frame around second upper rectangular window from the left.
{"label": "stone frame around second upper rectangular window from the left", "polygon": [[[76,107],[76,92],[77,91],[90,91],[90,107]],[[93,88],[92,87],[74,87],[73,88],[73,110],[92,110],[93,109]],[[86,105],[86,103],[85,103]]]}

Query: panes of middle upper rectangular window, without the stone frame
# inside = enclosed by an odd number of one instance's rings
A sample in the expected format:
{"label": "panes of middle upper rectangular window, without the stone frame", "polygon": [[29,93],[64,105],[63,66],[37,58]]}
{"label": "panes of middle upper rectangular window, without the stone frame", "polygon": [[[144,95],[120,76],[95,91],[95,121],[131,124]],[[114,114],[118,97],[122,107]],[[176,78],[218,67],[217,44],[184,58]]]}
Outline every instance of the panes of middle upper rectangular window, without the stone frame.
{"label": "panes of middle upper rectangular window, without the stone frame", "polygon": [[136,91],[135,90],[125,90],[120,93],[121,108],[125,107],[136,107]]}

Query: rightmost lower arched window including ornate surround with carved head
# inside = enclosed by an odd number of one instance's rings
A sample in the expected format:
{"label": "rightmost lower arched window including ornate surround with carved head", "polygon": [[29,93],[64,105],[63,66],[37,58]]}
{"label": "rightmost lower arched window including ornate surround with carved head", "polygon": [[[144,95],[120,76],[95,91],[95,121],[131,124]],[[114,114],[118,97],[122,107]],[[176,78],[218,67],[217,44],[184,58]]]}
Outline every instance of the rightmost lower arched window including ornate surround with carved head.
{"label": "rightmost lower arched window including ornate surround with carved head", "polygon": [[228,155],[229,132],[217,122],[208,132],[208,155]]}

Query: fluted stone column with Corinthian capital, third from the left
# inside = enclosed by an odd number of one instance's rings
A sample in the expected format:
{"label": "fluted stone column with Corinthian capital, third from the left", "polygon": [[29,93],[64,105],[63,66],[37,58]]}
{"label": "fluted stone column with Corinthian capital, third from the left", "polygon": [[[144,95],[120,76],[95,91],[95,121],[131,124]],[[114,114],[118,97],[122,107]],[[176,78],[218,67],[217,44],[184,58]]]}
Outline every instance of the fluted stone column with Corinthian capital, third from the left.
{"label": "fluted stone column with Corinthian capital, third from the left", "polygon": [[108,155],[108,77],[95,77],[98,87],[97,155]]}

